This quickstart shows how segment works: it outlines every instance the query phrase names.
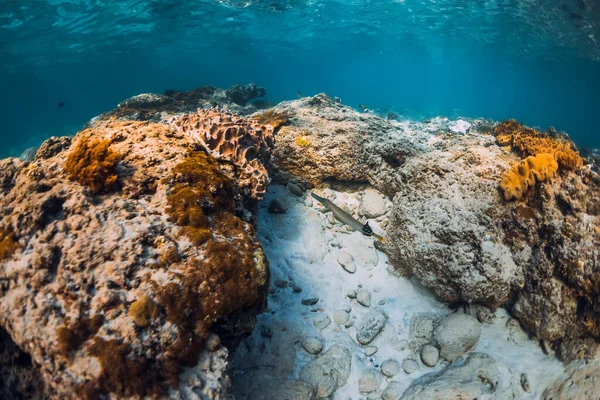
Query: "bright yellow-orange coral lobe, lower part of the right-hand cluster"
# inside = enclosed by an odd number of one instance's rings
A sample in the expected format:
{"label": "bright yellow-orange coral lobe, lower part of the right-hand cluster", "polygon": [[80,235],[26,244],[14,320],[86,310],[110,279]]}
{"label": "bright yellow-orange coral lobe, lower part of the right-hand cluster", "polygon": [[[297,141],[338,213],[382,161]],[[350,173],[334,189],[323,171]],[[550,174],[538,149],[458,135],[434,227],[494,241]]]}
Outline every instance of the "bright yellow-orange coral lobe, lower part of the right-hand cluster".
{"label": "bright yellow-orange coral lobe, lower part of the right-hand cluster", "polygon": [[504,198],[520,199],[523,193],[537,181],[552,178],[558,171],[558,163],[551,154],[538,154],[529,156],[513,166],[500,182],[504,190]]}

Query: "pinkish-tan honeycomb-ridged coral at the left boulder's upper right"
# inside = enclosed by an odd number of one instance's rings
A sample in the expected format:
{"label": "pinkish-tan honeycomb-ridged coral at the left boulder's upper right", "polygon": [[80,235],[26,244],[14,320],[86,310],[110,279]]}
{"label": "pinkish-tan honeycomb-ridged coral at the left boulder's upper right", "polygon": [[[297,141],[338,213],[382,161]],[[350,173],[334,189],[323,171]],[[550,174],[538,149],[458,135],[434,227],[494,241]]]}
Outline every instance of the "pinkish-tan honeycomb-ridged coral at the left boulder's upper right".
{"label": "pinkish-tan honeycomb-ridged coral at the left boulder's upper right", "polygon": [[269,183],[264,162],[273,146],[275,128],[272,125],[200,109],[197,113],[171,118],[169,123],[179,132],[199,140],[215,158],[234,164],[239,186],[245,194],[262,199]]}

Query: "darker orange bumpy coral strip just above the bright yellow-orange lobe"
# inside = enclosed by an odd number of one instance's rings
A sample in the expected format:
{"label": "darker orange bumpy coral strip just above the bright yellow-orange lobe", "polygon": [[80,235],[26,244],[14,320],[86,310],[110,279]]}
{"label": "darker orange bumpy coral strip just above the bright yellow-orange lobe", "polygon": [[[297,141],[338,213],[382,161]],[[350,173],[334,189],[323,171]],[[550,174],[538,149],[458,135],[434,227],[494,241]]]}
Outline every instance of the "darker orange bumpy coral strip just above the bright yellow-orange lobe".
{"label": "darker orange bumpy coral strip just above the bright yellow-orange lobe", "polygon": [[524,157],[551,154],[561,168],[574,170],[583,165],[583,158],[571,142],[541,134],[515,120],[503,121],[494,128],[496,141],[501,146],[512,146]]}

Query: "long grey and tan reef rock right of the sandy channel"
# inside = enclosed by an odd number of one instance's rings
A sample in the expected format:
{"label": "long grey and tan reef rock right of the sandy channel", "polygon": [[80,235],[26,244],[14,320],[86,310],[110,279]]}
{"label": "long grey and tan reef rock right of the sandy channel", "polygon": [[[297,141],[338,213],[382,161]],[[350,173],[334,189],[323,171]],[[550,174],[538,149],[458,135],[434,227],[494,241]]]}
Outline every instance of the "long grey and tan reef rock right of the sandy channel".
{"label": "long grey and tan reef rock right of the sandy channel", "polygon": [[449,303],[514,303],[541,339],[600,337],[593,169],[575,163],[509,202],[500,182],[521,155],[500,145],[489,121],[456,134],[444,119],[386,121],[323,94],[277,109],[290,123],[276,137],[275,179],[366,183],[393,199],[386,251],[402,274]]}

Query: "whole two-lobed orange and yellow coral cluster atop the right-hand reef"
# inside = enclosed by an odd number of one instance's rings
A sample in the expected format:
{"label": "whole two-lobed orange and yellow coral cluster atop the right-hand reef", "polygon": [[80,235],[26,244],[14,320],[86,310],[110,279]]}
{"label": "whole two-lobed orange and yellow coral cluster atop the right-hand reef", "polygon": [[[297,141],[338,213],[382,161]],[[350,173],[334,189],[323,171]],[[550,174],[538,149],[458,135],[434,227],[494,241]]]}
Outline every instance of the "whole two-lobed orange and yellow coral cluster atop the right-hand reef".
{"label": "whole two-lobed orange and yellow coral cluster atop the right-hand reef", "polygon": [[511,146],[525,157],[502,177],[500,187],[506,200],[520,199],[535,184],[534,177],[543,181],[554,176],[558,167],[575,170],[583,165],[583,158],[571,142],[541,134],[515,120],[501,122],[494,128],[494,134],[499,145]]}

